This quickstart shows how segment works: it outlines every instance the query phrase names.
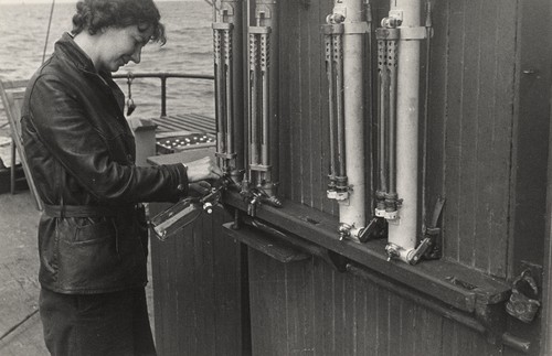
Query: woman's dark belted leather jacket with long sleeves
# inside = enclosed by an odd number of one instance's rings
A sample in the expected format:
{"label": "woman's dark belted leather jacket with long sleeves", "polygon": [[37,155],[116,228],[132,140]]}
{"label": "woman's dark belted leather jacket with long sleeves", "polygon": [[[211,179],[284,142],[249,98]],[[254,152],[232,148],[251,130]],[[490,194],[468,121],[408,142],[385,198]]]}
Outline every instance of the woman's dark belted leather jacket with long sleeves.
{"label": "woman's dark belted leather jacket with long sleeves", "polygon": [[60,293],[102,293],[147,283],[140,202],[187,193],[182,164],[140,168],[110,73],[96,73],[64,34],[31,78],[22,108],[24,151],[46,205],[39,225],[39,279]]}

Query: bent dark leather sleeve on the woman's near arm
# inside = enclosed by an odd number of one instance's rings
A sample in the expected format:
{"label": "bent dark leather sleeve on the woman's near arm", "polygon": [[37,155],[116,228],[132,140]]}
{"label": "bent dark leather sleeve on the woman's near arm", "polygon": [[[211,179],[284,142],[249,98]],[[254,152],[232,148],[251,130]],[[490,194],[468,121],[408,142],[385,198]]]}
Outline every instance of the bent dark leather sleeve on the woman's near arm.
{"label": "bent dark leather sleeve on the woman's near arm", "polygon": [[30,94],[30,114],[32,126],[50,153],[98,201],[174,202],[188,193],[183,164],[142,168],[115,162],[106,138],[55,76],[36,80]]}

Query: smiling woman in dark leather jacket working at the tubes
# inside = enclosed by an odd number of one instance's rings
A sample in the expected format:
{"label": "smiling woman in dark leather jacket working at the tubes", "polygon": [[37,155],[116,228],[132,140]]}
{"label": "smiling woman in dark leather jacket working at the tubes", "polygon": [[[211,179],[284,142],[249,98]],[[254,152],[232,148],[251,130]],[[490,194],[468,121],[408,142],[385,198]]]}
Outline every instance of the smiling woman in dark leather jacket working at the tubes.
{"label": "smiling woman in dark leather jacket working at the tubes", "polygon": [[216,179],[211,159],[139,168],[112,72],[164,44],[151,0],[85,0],[72,33],[31,78],[25,155],[45,212],[39,225],[44,338],[52,355],[155,355],[145,299],[141,202],[174,202]]}

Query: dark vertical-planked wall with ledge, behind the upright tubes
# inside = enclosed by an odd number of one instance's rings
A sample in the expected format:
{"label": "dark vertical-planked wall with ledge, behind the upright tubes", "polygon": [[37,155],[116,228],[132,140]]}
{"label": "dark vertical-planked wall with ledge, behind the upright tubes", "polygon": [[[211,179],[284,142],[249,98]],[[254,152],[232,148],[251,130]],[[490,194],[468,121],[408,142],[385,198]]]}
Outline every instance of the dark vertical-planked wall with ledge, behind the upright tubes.
{"label": "dark vertical-planked wall with ledge, behind the upright tubes", "polygon": [[[328,84],[320,31],[333,1],[273,1],[278,7],[278,95],[272,144],[283,206],[261,205],[255,214],[259,224],[244,224],[250,219],[247,203],[229,192],[224,208],[201,217],[177,238],[152,239],[160,355],[552,350],[544,302],[550,300],[545,281],[551,259],[546,187],[552,4],[431,2],[427,90],[425,55],[421,71],[428,106],[427,126],[420,128],[427,138],[420,201],[431,214],[439,197],[446,199],[439,219],[442,258],[410,266],[388,261],[383,240],[339,240],[337,203],[326,197]],[[253,13],[248,1],[236,3],[244,14]],[[389,1],[370,3],[378,26]],[[244,28],[248,19],[243,17]],[[246,34],[243,40],[247,43]],[[373,71],[376,77],[376,66]],[[234,80],[241,83],[234,97],[243,100],[236,106],[243,118],[247,77]],[[367,94],[365,108],[375,99],[375,93]],[[368,109],[364,117],[371,211],[375,123]],[[240,224],[234,222],[236,212]],[[541,301],[529,323],[507,314],[505,306],[524,270],[534,277]]]}

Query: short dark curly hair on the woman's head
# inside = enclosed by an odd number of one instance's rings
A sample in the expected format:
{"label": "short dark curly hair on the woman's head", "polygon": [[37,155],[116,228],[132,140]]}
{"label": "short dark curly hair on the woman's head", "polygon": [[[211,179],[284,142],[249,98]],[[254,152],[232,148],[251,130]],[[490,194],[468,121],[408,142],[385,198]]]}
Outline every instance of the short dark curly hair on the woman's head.
{"label": "short dark curly hair on the woman's head", "polygon": [[73,15],[73,34],[86,30],[95,34],[99,30],[115,26],[138,25],[140,31],[153,29],[152,42],[163,45],[167,42],[161,15],[152,0],[82,0],[76,3]]}

